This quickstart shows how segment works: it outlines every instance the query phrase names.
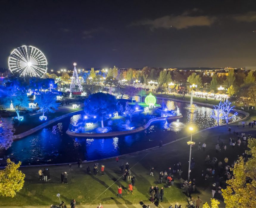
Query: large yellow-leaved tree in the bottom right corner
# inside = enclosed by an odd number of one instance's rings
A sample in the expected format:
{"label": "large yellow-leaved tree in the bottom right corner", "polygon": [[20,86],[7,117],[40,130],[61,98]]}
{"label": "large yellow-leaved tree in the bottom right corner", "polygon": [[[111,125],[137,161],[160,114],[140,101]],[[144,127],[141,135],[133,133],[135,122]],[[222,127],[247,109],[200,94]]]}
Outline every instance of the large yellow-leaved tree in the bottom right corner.
{"label": "large yellow-leaved tree in the bottom right corner", "polygon": [[247,154],[252,155],[247,161],[239,157],[234,168],[234,177],[227,180],[227,188],[222,189],[224,202],[227,208],[234,207],[256,207],[256,140],[248,139],[249,150]]}

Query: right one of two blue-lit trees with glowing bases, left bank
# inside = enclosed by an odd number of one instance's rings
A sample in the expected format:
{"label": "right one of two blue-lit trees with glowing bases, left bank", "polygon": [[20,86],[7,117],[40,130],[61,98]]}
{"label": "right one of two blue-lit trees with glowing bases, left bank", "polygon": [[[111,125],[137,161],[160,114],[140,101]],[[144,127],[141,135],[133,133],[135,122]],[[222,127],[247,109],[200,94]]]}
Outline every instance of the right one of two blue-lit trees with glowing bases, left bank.
{"label": "right one of two blue-lit trees with glowing bases, left bank", "polygon": [[56,103],[56,95],[50,94],[50,93],[41,93],[36,96],[35,103],[38,103],[38,107],[40,112],[44,114],[49,111],[51,113],[54,113],[60,103]]}

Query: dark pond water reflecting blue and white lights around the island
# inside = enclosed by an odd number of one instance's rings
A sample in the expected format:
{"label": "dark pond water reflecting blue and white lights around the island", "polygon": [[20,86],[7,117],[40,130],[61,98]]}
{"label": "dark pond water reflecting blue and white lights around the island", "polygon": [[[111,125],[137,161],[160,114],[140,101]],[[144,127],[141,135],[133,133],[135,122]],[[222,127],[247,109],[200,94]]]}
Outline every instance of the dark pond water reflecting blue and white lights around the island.
{"label": "dark pond water reflecting blue and white lights around the island", "polygon": [[[177,105],[180,108],[183,118],[179,121],[185,126],[193,122],[200,130],[217,125],[216,121],[210,118],[211,108],[197,106],[192,115],[191,110],[187,109],[189,105],[187,103],[174,102],[171,105]],[[76,123],[81,116],[83,115],[77,114],[65,118],[13,142],[8,150],[0,150],[0,158],[4,158],[0,160],[0,163],[7,158],[7,155],[15,162],[21,160],[23,165],[69,163],[76,162],[79,158],[82,160],[96,160],[158,146],[159,140],[162,140],[165,144],[187,135],[185,128],[169,127],[170,123],[173,122],[173,120],[170,120],[154,122],[149,128],[139,133],[114,138],[69,137],[65,133],[68,125]],[[232,121],[241,119],[241,117],[238,114]],[[12,153],[13,155],[11,155]]]}

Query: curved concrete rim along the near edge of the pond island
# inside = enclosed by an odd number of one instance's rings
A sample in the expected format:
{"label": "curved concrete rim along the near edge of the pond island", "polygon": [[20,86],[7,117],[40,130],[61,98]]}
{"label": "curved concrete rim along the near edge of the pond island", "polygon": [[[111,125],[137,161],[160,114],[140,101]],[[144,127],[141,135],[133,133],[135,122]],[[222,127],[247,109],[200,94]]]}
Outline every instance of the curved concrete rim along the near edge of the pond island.
{"label": "curved concrete rim along the near edge of the pond island", "polygon": [[66,133],[70,136],[75,136],[75,137],[113,137],[113,136],[121,136],[121,135],[127,135],[127,134],[134,134],[134,133],[137,133],[137,132],[140,132],[142,130],[145,130],[146,128],[148,128],[150,126],[150,124],[152,122],[155,122],[155,121],[165,121],[165,120],[171,120],[171,119],[179,119],[179,118],[182,118],[183,116],[182,115],[179,115],[179,116],[168,116],[168,117],[157,117],[157,118],[154,118],[154,119],[150,119],[146,125],[144,126],[141,126],[141,127],[138,127],[136,129],[133,129],[133,130],[127,130],[127,131],[113,131],[113,132],[107,132],[107,133],[76,133],[76,132],[73,132],[71,130],[67,130]]}

